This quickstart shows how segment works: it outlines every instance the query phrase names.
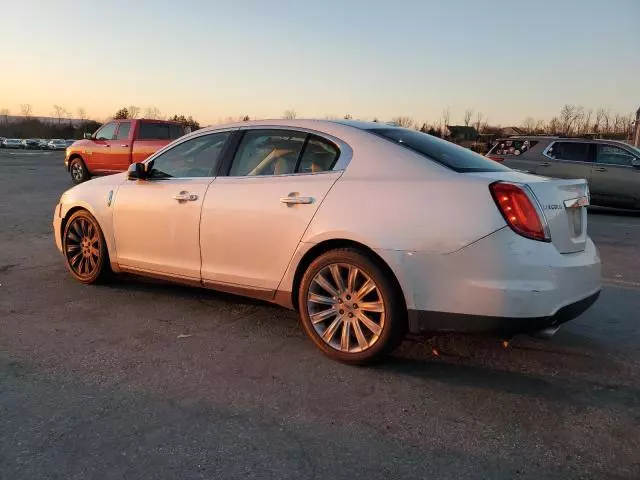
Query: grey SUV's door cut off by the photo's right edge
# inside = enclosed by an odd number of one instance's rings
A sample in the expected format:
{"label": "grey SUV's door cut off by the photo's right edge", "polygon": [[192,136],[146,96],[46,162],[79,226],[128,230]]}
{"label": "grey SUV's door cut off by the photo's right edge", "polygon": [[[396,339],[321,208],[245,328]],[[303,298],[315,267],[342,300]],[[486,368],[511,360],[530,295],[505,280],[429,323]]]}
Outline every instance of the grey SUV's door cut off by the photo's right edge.
{"label": "grey SUV's door cut off by the photo's right edge", "polygon": [[596,145],[591,174],[591,195],[596,203],[618,207],[640,205],[640,162],[633,153],[616,145]]}

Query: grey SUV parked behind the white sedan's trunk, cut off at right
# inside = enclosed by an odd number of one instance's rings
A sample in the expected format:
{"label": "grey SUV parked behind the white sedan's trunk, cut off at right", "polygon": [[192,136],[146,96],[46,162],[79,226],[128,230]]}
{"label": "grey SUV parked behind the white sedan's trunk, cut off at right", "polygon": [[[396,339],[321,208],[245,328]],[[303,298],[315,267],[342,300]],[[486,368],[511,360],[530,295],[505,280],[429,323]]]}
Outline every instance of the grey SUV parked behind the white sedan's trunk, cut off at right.
{"label": "grey SUV parked behind the white sedan's trunk, cut off at right", "polygon": [[594,204],[640,208],[640,150],[615,140],[510,137],[487,157],[509,167],[553,178],[584,178]]}

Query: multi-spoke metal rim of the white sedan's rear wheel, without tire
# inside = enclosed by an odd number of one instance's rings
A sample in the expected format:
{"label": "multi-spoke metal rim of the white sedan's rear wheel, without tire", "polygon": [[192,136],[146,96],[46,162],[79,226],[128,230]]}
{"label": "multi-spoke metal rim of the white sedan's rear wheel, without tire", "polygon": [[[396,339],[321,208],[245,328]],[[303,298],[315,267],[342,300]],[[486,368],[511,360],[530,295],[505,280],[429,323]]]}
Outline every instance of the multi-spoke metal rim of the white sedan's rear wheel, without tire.
{"label": "multi-spoke metal rim of the white sedan's rear wheel, without tire", "polygon": [[307,312],[318,336],[345,353],[371,348],[384,327],[384,299],[362,269],[347,263],[327,265],[313,277]]}

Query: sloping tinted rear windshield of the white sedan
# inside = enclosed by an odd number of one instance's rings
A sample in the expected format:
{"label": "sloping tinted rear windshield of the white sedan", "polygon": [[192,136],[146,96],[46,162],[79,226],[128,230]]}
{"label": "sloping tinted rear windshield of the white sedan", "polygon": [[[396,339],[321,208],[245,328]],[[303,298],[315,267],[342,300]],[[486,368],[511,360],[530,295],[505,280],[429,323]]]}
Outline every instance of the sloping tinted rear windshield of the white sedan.
{"label": "sloping tinted rear windshield of the white sedan", "polygon": [[426,133],[404,128],[373,128],[368,131],[422,154],[456,172],[504,172],[510,170],[510,168],[471,150]]}

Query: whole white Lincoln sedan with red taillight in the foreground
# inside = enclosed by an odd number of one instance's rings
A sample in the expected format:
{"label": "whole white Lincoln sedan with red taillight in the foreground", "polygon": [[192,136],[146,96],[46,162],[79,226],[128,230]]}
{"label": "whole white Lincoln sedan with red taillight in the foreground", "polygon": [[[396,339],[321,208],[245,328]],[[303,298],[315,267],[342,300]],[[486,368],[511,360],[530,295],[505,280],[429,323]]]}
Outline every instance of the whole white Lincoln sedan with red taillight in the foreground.
{"label": "whole white Lincoln sedan with red taillight in the foreground", "polygon": [[510,170],[380,123],[242,122],[77,185],[53,227],[68,270],[129,272],[300,312],[330,357],[407,331],[553,333],[600,292],[584,180]]}

